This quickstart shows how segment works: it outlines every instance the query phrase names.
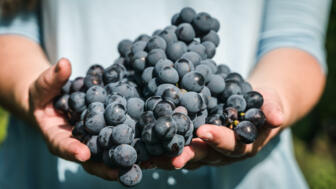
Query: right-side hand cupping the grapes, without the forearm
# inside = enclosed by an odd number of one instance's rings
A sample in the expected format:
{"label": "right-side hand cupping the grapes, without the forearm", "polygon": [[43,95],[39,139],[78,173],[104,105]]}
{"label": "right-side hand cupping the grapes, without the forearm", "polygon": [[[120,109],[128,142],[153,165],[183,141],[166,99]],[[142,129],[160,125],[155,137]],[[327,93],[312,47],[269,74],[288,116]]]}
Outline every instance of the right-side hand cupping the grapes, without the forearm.
{"label": "right-side hand cupping the grapes, without the forearm", "polygon": [[155,163],[161,168],[198,168],[202,165],[226,165],[259,152],[286,125],[285,103],[277,91],[270,88],[257,89],[264,97],[262,110],[267,124],[260,128],[258,137],[252,144],[243,144],[236,140],[234,131],[222,126],[203,125],[190,146],[186,146],[178,157],[158,160]]}

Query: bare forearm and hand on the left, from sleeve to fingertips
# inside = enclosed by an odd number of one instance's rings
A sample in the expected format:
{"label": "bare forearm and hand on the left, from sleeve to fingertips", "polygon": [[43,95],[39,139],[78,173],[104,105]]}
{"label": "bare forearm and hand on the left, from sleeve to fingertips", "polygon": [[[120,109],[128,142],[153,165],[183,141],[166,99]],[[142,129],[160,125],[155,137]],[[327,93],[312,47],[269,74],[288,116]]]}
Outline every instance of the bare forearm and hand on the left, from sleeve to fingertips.
{"label": "bare forearm and hand on the left, from sleeve to fingertips", "polygon": [[52,154],[81,163],[90,174],[116,180],[116,170],[89,160],[89,148],[72,137],[72,126],[53,107],[54,97],[71,75],[69,60],[62,58],[50,66],[37,43],[4,35],[0,36],[0,62],[1,105],[35,126]]}

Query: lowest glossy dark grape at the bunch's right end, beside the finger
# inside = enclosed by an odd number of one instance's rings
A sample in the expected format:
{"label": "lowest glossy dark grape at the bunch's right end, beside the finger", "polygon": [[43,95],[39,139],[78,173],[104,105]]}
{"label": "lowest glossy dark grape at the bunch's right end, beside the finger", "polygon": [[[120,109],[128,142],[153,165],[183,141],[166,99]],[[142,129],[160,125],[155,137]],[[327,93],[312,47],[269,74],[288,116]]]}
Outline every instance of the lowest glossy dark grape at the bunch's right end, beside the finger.
{"label": "lowest glossy dark grape at the bunch's right end, beside the finger", "polygon": [[242,121],[234,128],[238,141],[250,144],[257,138],[258,130],[250,121]]}

